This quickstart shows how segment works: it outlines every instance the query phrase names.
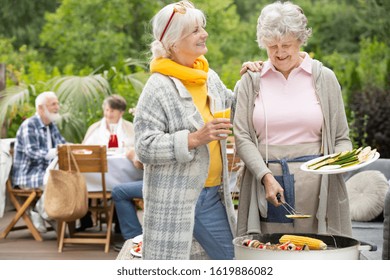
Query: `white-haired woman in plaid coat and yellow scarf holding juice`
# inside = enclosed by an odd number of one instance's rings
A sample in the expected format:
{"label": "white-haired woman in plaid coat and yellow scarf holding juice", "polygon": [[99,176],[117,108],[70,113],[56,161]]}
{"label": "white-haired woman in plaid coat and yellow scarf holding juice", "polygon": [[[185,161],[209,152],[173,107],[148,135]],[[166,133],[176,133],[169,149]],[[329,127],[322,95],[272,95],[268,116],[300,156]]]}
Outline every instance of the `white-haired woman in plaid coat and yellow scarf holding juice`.
{"label": "white-haired woman in plaid coat and yellow scarf holding juice", "polygon": [[189,259],[193,236],[211,259],[234,257],[226,158],[232,124],[213,116],[233,93],[203,56],[205,25],[188,1],[153,18],[152,75],[134,120],[145,167],[144,259]]}

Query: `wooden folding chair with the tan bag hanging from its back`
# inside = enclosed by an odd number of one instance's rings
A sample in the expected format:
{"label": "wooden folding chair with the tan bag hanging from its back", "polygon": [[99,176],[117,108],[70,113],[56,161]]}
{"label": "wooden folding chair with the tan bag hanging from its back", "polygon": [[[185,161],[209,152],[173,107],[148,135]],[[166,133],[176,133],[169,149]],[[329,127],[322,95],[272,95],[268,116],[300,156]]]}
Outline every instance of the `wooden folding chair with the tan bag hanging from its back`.
{"label": "wooden folding chair with the tan bag hanging from its back", "polygon": [[[114,202],[111,192],[106,189],[105,173],[107,172],[107,149],[102,145],[70,145],[70,151],[74,154],[80,172],[98,172],[101,174],[102,191],[88,192],[88,198],[99,201],[98,204],[89,206],[91,212],[97,212],[107,224],[103,232],[76,232],[75,221],[58,221],[58,252],[62,252],[64,244],[104,244],[104,252],[110,250],[112,219]],[[66,145],[58,146],[58,166],[61,170],[68,170],[68,156]],[[69,229],[69,237],[65,237],[66,227]]]}

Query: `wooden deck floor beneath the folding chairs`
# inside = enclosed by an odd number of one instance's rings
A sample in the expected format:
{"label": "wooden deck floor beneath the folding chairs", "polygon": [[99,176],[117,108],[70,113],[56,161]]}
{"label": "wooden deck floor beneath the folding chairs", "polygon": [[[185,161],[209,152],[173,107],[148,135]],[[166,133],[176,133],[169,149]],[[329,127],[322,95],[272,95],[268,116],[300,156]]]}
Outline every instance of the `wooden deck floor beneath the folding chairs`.
{"label": "wooden deck floor beneath the folding chairs", "polygon": [[[0,218],[0,232],[8,225],[15,212],[10,211]],[[19,221],[18,225],[23,225]],[[35,241],[29,231],[11,232],[6,239],[0,239],[0,260],[115,260],[118,252],[112,246],[104,253],[104,245],[67,244],[62,253],[57,251],[55,231],[42,234],[43,241]],[[112,236],[111,243],[121,241],[120,234]]]}

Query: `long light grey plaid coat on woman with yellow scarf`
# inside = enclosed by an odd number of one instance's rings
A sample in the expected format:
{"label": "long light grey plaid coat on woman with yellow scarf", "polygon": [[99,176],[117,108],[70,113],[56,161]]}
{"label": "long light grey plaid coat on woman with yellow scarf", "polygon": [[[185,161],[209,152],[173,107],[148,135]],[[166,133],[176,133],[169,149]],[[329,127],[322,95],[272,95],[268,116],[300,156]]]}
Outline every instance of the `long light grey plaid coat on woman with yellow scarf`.
{"label": "long light grey plaid coat on woman with yellow scarf", "polygon": [[[221,106],[233,99],[218,75],[209,70],[208,97]],[[214,102],[210,102],[213,112]],[[144,163],[144,259],[189,259],[195,205],[209,169],[207,145],[188,149],[188,134],[204,125],[191,94],[180,80],[154,73],[137,105],[135,149]],[[223,160],[222,201],[234,235],[236,216],[228,188],[226,140]],[[232,242],[232,240],[226,240]]]}

